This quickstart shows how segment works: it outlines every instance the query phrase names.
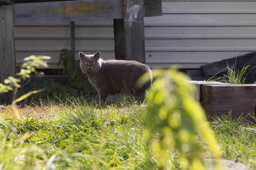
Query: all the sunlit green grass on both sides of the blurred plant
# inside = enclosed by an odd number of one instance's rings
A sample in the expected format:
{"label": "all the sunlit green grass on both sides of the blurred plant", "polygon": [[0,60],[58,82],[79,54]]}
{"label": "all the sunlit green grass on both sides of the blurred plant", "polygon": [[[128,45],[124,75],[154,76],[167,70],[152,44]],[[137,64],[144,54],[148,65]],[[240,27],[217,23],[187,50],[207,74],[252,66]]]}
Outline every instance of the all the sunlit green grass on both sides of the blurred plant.
{"label": "all the sunlit green grass on both sides of the blurred plant", "polygon": [[[0,109],[0,169],[155,169],[160,158],[145,138],[145,110],[127,101],[102,110],[84,101],[66,102],[20,108],[20,124]],[[222,158],[256,168],[255,124],[223,116],[211,127]],[[31,136],[19,143],[26,132]],[[198,140],[204,157],[210,157],[204,137]],[[180,165],[177,155],[169,150],[171,169]]]}

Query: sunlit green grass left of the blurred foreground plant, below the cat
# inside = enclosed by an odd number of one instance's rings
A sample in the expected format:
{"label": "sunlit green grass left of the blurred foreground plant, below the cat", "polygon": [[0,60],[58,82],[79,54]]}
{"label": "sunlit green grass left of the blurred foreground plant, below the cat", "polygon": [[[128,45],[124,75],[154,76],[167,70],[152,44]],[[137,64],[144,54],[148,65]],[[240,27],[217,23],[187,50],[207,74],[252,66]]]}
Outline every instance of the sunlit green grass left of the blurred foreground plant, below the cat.
{"label": "sunlit green grass left of the blurred foreground plant, below the cat", "polygon": [[[31,113],[37,114],[33,117]],[[3,140],[0,144],[0,148],[6,147],[3,154],[0,149],[2,169],[43,169],[47,163],[56,169],[148,169],[157,166],[156,151],[145,139],[145,107],[126,103],[96,110],[82,103],[52,104],[45,108],[22,108],[21,114],[23,125],[2,110],[5,123],[0,124],[0,137],[6,136],[9,141],[9,146],[3,145]],[[17,141],[27,131],[32,133],[31,137],[14,147],[13,140]],[[174,156],[175,152],[170,155]],[[51,158],[54,158],[53,163]],[[29,160],[34,164],[29,165]],[[172,165],[177,167],[178,163]]]}

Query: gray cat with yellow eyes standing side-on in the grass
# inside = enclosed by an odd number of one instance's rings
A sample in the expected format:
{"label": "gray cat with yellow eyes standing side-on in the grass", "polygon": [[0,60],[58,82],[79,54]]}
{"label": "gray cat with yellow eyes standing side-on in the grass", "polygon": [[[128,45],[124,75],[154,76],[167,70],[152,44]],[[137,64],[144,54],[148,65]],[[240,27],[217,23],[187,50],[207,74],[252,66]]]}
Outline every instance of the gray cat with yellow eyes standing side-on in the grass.
{"label": "gray cat with yellow eyes standing side-on in the grass", "polygon": [[[80,52],[79,56],[82,71],[88,75],[89,81],[98,91],[97,107],[105,105],[107,96],[113,94],[134,97],[136,104],[144,103],[146,90],[152,84],[151,70],[147,65],[137,61],[104,61],[100,58],[100,52],[94,55],[85,55]],[[137,81],[144,73],[149,73],[151,80],[139,87]]]}

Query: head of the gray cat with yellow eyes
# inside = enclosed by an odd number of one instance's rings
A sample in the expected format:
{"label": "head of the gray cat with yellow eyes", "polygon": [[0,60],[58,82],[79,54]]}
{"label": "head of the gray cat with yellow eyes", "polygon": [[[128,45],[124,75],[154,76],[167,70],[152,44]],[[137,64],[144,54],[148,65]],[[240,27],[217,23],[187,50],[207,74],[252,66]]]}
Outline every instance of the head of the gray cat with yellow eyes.
{"label": "head of the gray cat with yellow eyes", "polygon": [[80,52],[79,57],[81,58],[80,67],[84,73],[96,74],[101,68],[100,52],[97,52],[94,55],[85,55]]}

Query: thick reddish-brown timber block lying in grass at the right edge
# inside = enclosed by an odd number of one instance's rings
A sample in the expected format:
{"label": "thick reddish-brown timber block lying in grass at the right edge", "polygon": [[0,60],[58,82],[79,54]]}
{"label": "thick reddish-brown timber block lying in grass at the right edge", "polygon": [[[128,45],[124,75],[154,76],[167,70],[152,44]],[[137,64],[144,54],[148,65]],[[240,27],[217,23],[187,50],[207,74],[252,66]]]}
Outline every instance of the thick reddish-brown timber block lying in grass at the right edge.
{"label": "thick reddish-brown timber block lying in grass at the right edge", "polygon": [[[230,111],[232,117],[255,114],[256,84],[203,85],[203,105],[207,116],[213,118]],[[252,121],[250,117],[247,120]]]}

